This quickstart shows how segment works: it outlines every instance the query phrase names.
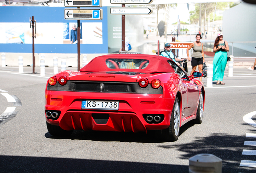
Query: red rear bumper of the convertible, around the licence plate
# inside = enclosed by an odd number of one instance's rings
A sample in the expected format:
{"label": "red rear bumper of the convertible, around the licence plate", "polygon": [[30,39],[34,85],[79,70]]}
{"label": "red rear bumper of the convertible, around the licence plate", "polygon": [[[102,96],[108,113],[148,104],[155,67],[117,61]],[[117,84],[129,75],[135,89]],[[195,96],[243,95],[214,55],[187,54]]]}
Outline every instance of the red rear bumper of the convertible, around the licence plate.
{"label": "red rear bumper of the convertible, around the licence plate", "polygon": [[[166,99],[162,95],[122,94],[122,93],[85,93],[67,91],[47,91],[45,110],[61,111],[57,120],[46,121],[59,125],[64,130],[95,130],[138,132],[166,129],[170,125],[171,110],[175,99]],[[81,109],[82,100],[119,101],[118,111]],[[141,103],[142,102],[142,103]],[[92,114],[107,114],[106,124],[97,124]],[[159,124],[149,124],[143,114],[163,114]]]}

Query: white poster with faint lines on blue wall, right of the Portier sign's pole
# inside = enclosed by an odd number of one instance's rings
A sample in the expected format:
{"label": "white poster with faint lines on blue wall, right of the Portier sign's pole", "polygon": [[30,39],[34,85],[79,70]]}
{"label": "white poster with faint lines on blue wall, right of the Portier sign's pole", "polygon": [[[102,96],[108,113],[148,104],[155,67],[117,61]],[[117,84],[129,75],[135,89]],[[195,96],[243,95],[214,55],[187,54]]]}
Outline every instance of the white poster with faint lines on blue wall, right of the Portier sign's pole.
{"label": "white poster with faint lines on blue wall, right of the Portier sign's pole", "polygon": [[83,44],[103,44],[101,22],[85,22],[82,25]]}

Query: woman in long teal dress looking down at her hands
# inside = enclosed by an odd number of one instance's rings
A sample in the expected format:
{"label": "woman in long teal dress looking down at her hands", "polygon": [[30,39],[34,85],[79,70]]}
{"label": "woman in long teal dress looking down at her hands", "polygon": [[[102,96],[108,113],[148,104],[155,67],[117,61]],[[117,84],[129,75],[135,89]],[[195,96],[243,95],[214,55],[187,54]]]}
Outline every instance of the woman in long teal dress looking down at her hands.
{"label": "woman in long teal dress looking down at her hands", "polygon": [[213,59],[213,80],[217,80],[217,85],[225,85],[223,80],[224,71],[227,65],[227,52],[229,45],[227,41],[223,40],[223,34],[220,32],[215,40],[213,52],[215,52]]}

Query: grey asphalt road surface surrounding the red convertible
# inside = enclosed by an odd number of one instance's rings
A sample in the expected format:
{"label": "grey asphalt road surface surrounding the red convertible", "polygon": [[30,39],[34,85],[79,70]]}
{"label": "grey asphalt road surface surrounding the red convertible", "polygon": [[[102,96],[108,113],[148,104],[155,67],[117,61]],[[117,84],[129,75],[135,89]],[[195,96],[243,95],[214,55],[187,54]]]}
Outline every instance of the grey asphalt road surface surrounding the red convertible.
{"label": "grey asphalt road surface surrounding the red convertible", "polygon": [[[15,107],[9,119],[0,121],[0,172],[188,173],[188,159],[200,153],[223,159],[223,173],[256,172],[255,167],[240,166],[242,160],[256,161],[255,155],[246,155],[256,146],[244,145],[256,141],[246,137],[256,133],[256,127],[243,121],[244,115],[256,111],[256,70],[235,68],[233,77],[225,72],[225,85],[213,82],[212,88],[205,87],[202,124],[182,126],[175,142],[151,133],[74,131],[67,138],[51,136],[44,93],[52,71],[46,68],[46,76],[40,76],[29,74],[29,67],[25,74],[19,74],[18,67],[0,67],[0,115]],[[206,86],[206,78],[202,81]],[[2,93],[16,102],[8,102]]]}

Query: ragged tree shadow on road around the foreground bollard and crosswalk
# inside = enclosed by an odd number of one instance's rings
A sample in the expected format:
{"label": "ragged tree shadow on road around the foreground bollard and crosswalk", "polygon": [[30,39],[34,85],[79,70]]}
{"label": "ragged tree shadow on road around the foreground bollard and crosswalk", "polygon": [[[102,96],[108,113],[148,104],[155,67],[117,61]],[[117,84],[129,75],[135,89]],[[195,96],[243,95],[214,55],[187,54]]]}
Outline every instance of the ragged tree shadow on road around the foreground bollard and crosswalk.
{"label": "ragged tree shadow on road around the foreground bollard and crosswalk", "polygon": [[[255,169],[240,167],[241,160],[255,160],[254,156],[242,155],[243,149],[255,149],[253,146],[244,145],[244,141],[253,141],[246,136],[228,135],[225,133],[212,133],[208,137],[196,137],[191,143],[158,145],[164,149],[177,149],[182,151],[180,159],[189,159],[198,154],[213,154],[223,160],[223,173],[244,172],[253,173]],[[250,172],[251,171],[251,172]]]}

